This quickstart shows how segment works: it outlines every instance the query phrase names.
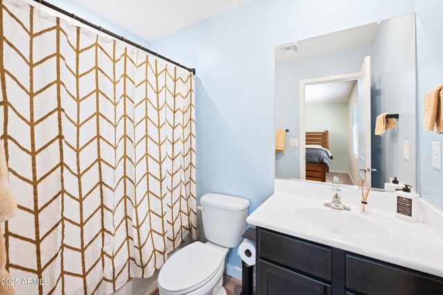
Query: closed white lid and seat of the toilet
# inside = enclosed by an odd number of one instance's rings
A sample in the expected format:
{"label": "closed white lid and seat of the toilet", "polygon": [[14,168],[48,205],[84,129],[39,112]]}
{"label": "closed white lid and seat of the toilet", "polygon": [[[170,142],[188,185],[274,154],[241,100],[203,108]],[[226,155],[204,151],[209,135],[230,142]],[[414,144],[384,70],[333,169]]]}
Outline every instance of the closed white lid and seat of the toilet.
{"label": "closed white lid and seat of the toilet", "polygon": [[224,269],[224,250],[194,242],[174,253],[159,274],[161,293],[187,294],[204,286]]}

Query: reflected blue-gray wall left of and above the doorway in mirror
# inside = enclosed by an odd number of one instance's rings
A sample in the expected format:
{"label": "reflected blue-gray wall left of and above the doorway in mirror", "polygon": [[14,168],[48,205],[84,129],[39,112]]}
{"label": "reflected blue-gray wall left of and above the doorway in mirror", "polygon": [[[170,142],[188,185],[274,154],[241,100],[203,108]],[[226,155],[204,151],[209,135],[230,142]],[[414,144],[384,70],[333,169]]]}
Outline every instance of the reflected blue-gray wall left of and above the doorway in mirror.
{"label": "reflected blue-gray wall left of and above the doorway in mirror", "polygon": [[[298,81],[359,72],[365,57],[370,54],[371,47],[368,45],[275,64],[275,128],[289,129],[286,152],[275,154],[276,177],[300,178],[300,148],[289,147],[290,137],[300,138],[298,125],[300,121],[298,102],[300,85]],[[335,158],[334,155],[334,160],[336,160]],[[334,169],[332,168],[332,170]],[[347,170],[347,168],[343,170]]]}

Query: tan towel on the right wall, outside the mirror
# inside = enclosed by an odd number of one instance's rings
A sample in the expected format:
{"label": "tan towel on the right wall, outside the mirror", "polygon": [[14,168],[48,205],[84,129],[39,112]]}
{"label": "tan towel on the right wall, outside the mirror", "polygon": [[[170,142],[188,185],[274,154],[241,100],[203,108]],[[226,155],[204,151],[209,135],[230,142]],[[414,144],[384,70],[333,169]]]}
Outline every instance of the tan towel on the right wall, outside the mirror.
{"label": "tan towel on the right wall, outside the mirror", "polygon": [[443,133],[443,85],[432,89],[424,99],[424,129]]}

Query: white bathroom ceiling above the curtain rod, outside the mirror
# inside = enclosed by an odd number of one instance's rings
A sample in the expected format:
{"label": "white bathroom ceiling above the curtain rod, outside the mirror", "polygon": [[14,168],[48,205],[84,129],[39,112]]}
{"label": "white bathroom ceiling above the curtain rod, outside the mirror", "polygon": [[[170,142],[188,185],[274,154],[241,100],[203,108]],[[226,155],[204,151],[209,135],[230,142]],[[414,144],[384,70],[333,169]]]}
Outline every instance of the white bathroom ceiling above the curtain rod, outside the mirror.
{"label": "white bathroom ceiling above the curtain rod, outside the mirror", "polygon": [[251,0],[69,0],[147,41]]}

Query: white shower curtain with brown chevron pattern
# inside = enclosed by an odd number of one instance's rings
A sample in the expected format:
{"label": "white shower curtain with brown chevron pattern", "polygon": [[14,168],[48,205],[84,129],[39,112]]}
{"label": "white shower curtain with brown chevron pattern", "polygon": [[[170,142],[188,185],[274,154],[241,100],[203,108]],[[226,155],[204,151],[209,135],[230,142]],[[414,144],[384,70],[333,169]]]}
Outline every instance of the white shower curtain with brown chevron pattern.
{"label": "white shower curtain with brown chevron pattern", "polygon": [[111,294],[151,276],[197,238],[194,77],[21,1],[1,1],[0,19],[17,294]]}

